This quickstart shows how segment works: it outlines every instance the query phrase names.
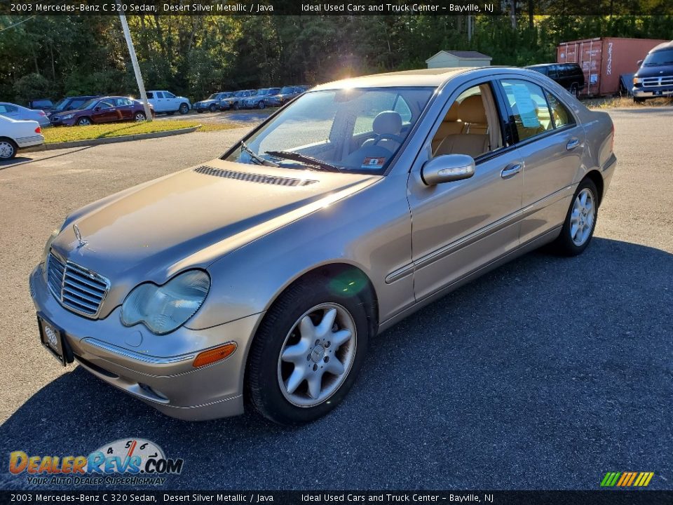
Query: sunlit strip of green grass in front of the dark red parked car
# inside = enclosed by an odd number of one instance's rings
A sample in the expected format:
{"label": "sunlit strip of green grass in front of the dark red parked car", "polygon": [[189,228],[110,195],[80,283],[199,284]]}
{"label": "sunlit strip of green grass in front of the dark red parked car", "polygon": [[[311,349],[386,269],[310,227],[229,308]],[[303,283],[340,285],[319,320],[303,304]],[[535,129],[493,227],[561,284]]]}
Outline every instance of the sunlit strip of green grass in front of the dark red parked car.
{"label": "sunlit strip of green grass in front of the dark red parked car", "polygon": [[[198,121],[142,121],[142,123],[108,123],[91,126],[59,126],[42,130],[46,144],[58,142],[74,142],[76,140],[93,140],[110,137],[124,137],[140,133],[157,133],[171,130],[181,130],[198,126]],[[211,124],[208,128],[199,128],[197,131],[229,130],[236,128],[229,124]]]}

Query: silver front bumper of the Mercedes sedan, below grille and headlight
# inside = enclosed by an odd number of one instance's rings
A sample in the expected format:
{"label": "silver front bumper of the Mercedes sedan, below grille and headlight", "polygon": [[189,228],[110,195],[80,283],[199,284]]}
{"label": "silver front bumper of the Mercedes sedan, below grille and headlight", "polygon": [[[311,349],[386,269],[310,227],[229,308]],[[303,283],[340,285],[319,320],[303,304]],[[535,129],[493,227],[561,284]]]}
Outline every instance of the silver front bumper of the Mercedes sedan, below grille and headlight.
{"label": "silver front bumper of the Mercedes sedan, below grille and headlight", "polygon": [[[158,354],[152,350],[161,342],[156,339],[169,335],[154,335],[142,325],[123,326],[120,307],[98,320],[64,309],[47,288],[43,264],[30,276],[30,292],[37,311],[64,332],[76,361],[104,382],[178,419],[196,421],[243,413],[245,358],[263,314],[207,330],[178,328],[169,334],[172,342],[181,344],[177,352]],[[200,351],[226,342],[238,346],[229,358],[193,368]]]}

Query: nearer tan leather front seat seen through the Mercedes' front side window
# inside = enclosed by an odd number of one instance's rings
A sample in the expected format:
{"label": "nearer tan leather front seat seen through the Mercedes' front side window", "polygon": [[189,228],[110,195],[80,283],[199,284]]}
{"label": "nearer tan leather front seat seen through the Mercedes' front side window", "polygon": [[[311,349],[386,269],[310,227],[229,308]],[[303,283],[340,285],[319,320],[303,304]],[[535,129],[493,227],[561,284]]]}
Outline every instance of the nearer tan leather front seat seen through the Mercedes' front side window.
{"label": "nearer tan leather front seat seen through the Mercedes' front side window", "polygon": [[461,133],[447,135],[437,146],[435,156],[441,154],[468,154],[476,158],[489,152],[489,121],[481,95],[465,98],[458,107],[458,117],[463,122]]}

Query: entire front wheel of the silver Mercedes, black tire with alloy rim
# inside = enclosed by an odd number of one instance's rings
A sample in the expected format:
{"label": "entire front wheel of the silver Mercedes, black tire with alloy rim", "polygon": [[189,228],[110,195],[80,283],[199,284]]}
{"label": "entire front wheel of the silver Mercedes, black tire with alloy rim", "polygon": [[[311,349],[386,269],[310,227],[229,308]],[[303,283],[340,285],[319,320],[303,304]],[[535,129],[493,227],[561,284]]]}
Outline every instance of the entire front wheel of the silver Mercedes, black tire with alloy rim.
{"label": "entire front wheel of the silver Mercedes, black tire with alloy rim", "polygon": [[247,399],[267,419],[288,426],[314,421],[336,407],[355,382],[369,325],[360,296],[343,296],[346,289],[340,287],[325,277],[299,282],[264,316],[248,355],[245,385]]}

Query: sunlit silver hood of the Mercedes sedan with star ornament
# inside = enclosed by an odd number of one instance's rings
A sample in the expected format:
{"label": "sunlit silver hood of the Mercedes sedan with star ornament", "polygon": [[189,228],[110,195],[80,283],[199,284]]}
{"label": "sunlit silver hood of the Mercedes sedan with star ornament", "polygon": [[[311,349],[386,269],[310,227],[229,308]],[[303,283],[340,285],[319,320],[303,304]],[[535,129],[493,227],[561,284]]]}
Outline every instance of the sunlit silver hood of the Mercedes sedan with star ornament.
{"label": "sunlit silver hood of the Mercedes sedan with star ornament", "polygon": [[185,268],[205,268],[380,179],[217,159],[76,211],[52,249],[111,281],[109,312],[140,282],[161,284]]}

